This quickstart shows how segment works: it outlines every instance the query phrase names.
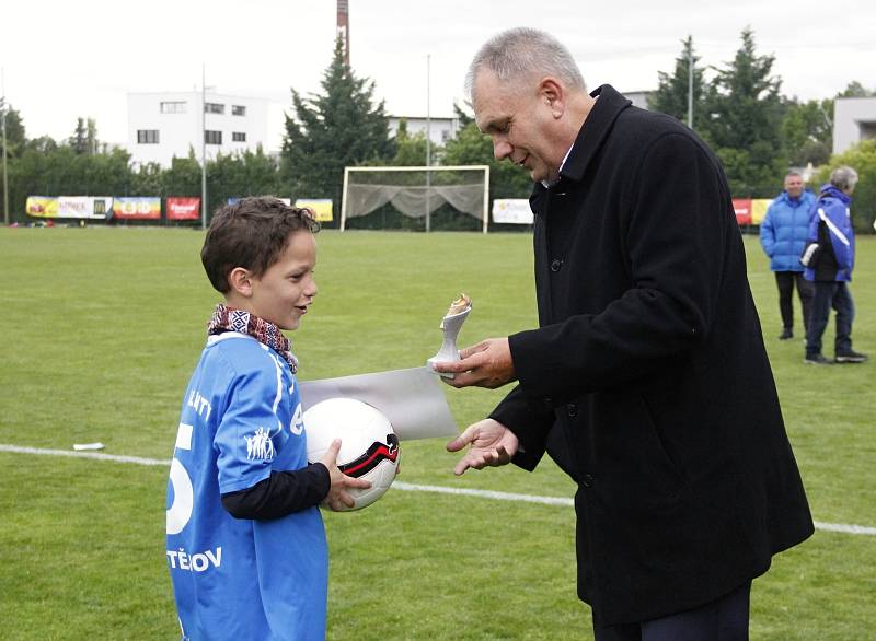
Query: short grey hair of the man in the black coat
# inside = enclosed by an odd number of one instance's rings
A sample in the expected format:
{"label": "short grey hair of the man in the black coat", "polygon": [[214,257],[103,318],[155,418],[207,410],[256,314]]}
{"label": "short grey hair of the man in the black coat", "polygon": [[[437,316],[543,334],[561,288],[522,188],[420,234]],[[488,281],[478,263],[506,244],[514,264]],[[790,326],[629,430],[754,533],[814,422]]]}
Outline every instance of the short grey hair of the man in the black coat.
{"label": "short grey hair of the man in the black coat", "polygon": [[527,75],[554,75],[572,89],[587,91],[569,50],[551,34],[526,26],[496,34],[475,54],[465,77],[470,101],[474,78],[484,69],[503,82]]}

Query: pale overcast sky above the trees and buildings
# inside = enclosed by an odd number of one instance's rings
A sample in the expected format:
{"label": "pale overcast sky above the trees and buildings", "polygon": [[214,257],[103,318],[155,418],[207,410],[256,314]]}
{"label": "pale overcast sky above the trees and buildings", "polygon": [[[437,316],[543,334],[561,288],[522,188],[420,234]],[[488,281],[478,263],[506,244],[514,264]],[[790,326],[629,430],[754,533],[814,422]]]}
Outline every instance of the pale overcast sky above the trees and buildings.
{"label": "pale overcast sky above the trees and buildings", "polygon": [[[833,96],[852,80],[876,88],[876,2],[833,0],[349,0],[351,66],[376,83],[392,115],[452,115],[468,63],[511,26],[552,32],[569,47],[589,88],[657,86],[681,40],[701,63],[723,67],[750,25],[758,51],[774,55],[785,95]],[[99,138],[126,142],[127,92],[220,92],[273,102],[278,139],[289,89],[319,92],[334,44],[335,0],[7,0],[0,9],[5,95],[28,138],[72,132],[96,119]],[[427,56],[430,82],[427,92]]]}

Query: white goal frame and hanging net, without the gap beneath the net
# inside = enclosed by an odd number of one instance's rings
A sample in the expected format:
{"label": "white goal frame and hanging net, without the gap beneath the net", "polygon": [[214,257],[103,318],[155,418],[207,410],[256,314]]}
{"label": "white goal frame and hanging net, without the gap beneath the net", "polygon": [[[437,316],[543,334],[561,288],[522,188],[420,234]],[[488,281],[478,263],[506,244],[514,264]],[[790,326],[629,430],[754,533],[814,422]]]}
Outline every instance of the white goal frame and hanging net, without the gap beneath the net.
{"label": "white goal frame and hanging net, without the gap beneath the net", "polygon": [[427,232],[439,208],[452,210],[481,221],[486,233],[489,165],[344,167],[341,231],[351,219],[384,207],[407,219],[423,219]]}

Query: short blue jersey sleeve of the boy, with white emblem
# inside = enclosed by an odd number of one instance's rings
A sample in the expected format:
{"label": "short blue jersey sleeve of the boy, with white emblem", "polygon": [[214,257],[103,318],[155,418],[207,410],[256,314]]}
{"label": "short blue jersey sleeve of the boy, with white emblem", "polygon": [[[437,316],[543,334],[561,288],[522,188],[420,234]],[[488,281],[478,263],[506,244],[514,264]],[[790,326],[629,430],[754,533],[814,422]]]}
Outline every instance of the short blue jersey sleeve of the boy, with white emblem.
{"label": "short blue jersey sleeve of the boy, with white emblem", "polygon": [[[221,493],[245,490],[268,478],[283,432],[284,385],[279,365],[238,373],[214,438]],[[287,421],[288,422],[288,421]]]}

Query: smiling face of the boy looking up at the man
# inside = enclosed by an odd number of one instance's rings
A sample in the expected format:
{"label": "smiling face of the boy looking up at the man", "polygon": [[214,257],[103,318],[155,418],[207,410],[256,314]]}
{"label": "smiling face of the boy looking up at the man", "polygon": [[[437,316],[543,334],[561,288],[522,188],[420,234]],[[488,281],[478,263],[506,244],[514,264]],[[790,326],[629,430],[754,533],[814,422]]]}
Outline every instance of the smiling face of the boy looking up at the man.
{"label": "smiling face of the boy looking up at the man", "polygon": [[252,278],[251,310],[280,329],[298,329],[301,316],[316,295],[313,268],[316,241],[309,231],[292,232],[289,243],[274,265],[261,277]]}

